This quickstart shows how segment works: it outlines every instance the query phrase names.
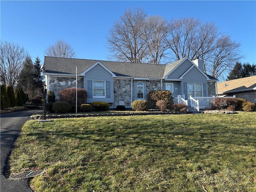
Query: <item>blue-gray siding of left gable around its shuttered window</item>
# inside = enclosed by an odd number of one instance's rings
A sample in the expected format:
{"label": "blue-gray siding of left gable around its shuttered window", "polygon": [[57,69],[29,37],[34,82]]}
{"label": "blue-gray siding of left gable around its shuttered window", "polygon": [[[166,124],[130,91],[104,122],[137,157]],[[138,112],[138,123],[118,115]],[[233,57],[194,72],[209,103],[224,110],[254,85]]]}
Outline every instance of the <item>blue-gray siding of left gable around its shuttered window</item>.
{"label": "blue-gray siding of left gable around its shuttered window", "polygon": [[[84,76],[84,88],[88,91],[88,81],[109,81],[110,83],[110,97],[105,98],[87,98],[88,103],[92,103],[94,101],[104,101],[107,103],[113,103],[114,102],[114,91],[113,91],[113,77],[112,74],[110,74],[107,70],[105,70],[102,66],[99,64],[96,65],[94,68],[92,68],[90,71],[88,71]],[[106,86],[106,83],[105,83]],[[106,87],[105,87],[106,88]],[[106,90],[107,91],[107,90]],[[106,92],[105,92],[106,94]]]}

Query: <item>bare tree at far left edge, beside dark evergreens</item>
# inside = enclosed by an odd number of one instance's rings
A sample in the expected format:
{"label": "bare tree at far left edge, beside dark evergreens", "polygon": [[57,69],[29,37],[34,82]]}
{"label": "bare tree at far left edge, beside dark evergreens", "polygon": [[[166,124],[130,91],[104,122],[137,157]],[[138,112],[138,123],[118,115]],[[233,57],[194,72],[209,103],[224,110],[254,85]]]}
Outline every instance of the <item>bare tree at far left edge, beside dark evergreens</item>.
{"label": "bare tree at far left edge, beside dark evergreens", "polygon": [[28,52],[18,44],[0,42],[0,80],[4,84],[16,86],[23,62],[27,56]]}

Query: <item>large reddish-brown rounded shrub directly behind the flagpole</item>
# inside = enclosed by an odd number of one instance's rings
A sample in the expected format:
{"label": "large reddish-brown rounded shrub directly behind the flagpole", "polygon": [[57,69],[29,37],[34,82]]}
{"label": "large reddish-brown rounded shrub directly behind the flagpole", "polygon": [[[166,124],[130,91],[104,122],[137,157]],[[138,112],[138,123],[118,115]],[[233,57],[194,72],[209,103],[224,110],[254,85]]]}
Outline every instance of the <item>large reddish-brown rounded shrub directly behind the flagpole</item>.
{"label": "large reddish-brown rounded shrub directly behind the flagpole", "polygon": [[[59,92],[60,101],[69,102],[72,105],[76,104],[76,88],[66,88]],[[82,88],[77,89],[77,105],[81,106],[87,102],[87,91]]]}

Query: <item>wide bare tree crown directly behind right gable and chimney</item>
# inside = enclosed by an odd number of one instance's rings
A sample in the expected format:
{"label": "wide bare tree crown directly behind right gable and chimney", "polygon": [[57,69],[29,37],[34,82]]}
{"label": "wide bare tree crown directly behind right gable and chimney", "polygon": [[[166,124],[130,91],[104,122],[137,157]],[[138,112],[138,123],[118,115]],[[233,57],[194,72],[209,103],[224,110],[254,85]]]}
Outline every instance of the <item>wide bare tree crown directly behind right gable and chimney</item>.
{"label": "wide bare tree crown directly behind right gable and chimney", "polygon": [[202,58],[213,50],[213,42],[218,36],[213,23],[205,23],[194,18],[180,18],[170,22],[170,35],[166,38],[172,50],[172,59],[188,57]]}

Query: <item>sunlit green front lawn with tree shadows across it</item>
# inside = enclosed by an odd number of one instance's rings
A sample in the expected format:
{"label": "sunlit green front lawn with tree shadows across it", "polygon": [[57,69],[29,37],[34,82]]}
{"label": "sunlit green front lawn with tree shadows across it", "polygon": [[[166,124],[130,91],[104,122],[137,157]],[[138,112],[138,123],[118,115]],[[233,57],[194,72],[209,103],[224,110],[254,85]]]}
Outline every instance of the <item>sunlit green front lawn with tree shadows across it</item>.
{"label": "sunlit green front lawn with tree shadows across it", "polygon": [[256,112],[27,122],[11,174],[36,192],[255,192]]}

